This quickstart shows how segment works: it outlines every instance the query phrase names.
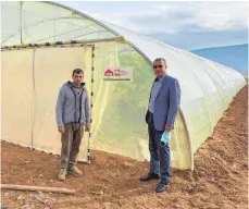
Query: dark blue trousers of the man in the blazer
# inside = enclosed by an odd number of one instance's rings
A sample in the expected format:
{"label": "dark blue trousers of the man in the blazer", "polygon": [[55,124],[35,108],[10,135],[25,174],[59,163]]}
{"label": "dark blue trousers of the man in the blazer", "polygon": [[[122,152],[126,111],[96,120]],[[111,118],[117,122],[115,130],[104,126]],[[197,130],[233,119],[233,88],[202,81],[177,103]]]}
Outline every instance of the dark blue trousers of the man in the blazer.
{"label": "dark blue trousers of the man in the blazer", "polygon": [[169,143],[161,146],[161,136],[164,131],[157,131],[153,124],[153,114],[148,120],[150,172],[160,174],[161,181],[167,183],[171,176],[171,150]]}

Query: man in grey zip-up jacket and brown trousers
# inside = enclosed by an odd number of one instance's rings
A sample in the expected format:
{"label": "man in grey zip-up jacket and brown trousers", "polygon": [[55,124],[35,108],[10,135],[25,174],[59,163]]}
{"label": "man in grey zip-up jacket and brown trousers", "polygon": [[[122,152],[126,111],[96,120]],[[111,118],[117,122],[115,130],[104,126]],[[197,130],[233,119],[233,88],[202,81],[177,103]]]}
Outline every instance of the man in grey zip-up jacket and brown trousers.
{"label": "man in grey zip-up jacket and brown trousers", "polygon": [[84,72],[75,69],[73,82],[65,83],[58,96],[57,124],[61,135],[61,170],[58,179],[63,181],[69,173],[80,176],[83,173],[76,167],[77,155],[84,135],[84,127],[90,131],[89,97],[85,83]]}

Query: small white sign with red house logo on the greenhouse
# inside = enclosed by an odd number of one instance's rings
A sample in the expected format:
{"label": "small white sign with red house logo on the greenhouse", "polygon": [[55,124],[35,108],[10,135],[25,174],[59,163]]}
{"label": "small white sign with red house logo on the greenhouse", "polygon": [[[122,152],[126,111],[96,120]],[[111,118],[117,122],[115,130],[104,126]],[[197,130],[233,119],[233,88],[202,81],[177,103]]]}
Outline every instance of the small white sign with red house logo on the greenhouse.
{"label": "small white sign with red house logo on the greenhouse", "polygon": [[130,81],[133,78],[133,67],[108,67],[103,72],[104,81]]}

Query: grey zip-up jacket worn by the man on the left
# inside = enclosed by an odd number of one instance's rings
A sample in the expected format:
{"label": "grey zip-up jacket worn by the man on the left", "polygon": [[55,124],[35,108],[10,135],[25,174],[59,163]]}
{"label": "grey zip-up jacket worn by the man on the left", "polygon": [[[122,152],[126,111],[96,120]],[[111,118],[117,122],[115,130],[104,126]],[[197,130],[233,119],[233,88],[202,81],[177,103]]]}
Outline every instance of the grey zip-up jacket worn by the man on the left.
{"label": "grey zip-up jacket worn by the man on the left", "polygon": [[[85,83],[82,84],[82,88],[83,95],[80,123],[85,123],[87,126],[90,126],[89,97],[85,87]],[[61,87],[55,108],[58,126],[64,126],[66,123],[78,122],[79,98],[79,95],[74,91],[72,85],[69,82]]]}

